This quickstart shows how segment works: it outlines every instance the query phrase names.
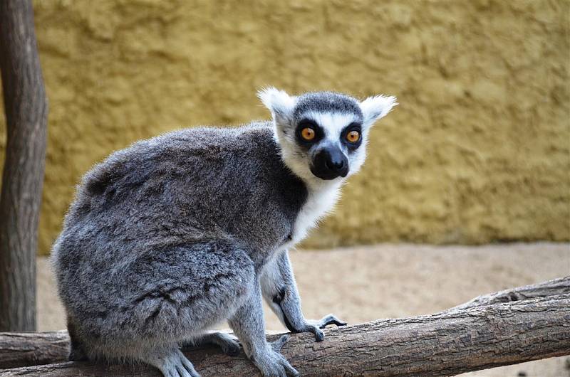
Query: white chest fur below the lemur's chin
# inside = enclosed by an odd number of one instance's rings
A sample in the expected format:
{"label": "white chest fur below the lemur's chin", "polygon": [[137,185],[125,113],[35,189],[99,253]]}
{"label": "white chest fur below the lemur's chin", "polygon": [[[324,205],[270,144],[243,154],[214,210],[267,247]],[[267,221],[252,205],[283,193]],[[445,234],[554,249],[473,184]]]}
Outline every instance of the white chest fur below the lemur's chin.
{"label": "white chest fur below the lemur's chin", "polygon": [[317,225],[318,220],[333,209],[340,196],[341,184],[341,182],[335,181],[309,187],[307,200],[294,223],[291,240],[283,245],[284,248],[290,248],[303,240],[309,230]]}

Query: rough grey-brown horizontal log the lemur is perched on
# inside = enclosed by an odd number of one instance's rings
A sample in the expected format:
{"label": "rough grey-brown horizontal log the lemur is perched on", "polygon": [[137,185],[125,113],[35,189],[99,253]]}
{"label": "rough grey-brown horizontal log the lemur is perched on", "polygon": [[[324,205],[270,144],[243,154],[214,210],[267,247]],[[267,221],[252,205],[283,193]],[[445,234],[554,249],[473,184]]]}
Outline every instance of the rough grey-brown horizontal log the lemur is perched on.
{"label": "rough grey-brown horizontal log the lemur is perched on", "polygon": [[[56,344],[53,348],[46,341],[49,336]],[[65,331],[49,336],[0,334],[0,367],[14,365],[17,359],[21,363],[44,362],[48,349],[53,351],[49,356],[52,361],[64,359],[66,350],[61,342],[66,341]],[[19,350],[19,344],[28,351]],[[570,277],[477,297],[438,314],[331,328],[321,343],[316,343],[312,334],[294,334],[282,351],[304,376],[452,376],[570,355]],[[208,348],[185,354],[204,377],[259,376],[243,352],[230,357]],[[5,369],[0,374],[160,376],[147,366],[78,362]]]}

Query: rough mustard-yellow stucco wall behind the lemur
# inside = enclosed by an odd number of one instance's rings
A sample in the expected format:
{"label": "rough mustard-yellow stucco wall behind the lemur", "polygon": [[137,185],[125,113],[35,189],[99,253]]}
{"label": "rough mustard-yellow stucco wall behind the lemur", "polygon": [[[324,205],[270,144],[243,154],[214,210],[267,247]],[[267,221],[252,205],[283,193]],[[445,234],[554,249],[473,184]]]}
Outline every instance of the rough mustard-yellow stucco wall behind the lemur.
{"label": "rough mustard-yellow stucco wall behind the lemur", "polygon": [[40,252],[95,162],[170,129],[266,118],[264,85],[399,98],[306,245],[569,240],[569,4],[36,0],[51,107]]}

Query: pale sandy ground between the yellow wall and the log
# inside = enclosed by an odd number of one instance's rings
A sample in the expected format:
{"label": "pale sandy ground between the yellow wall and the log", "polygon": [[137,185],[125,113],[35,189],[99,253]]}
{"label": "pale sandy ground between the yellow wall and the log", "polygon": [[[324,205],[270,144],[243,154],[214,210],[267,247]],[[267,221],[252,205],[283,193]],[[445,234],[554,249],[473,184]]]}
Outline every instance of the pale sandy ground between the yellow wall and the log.
{"label": "pale sandy ground between the yellow wall and the log", "polygon": [[[293,251],[291,261],[306,317],[331,312],[356,324],[440,312],[479,294],[570,275],[570,244],[374,245]],[[268,309],[266,322],[269,331],[284,330]],[[45,258],[38,259],[38,326],[65,327]],[[570,377],[570,357],[462,376]]]}

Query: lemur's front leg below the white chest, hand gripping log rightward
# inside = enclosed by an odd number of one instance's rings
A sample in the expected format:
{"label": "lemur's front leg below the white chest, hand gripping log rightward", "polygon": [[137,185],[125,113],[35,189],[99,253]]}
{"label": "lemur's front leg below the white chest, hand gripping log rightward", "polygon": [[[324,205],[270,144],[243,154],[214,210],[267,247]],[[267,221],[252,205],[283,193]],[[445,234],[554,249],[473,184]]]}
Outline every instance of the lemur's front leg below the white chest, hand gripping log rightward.
{"label": "lemur's front leg below the white chest, hand gripping log rightward", "polygon": [[276,255],[264,268],[261,275],[261,291],[281,323],[293,333],[312,332],[316,341],[322,341],[324,334],[321,329],[326,325],[346,326],[346,322],[333,314],[328,314],[320,321],[305,319],[301,312],[301,299],[286,250]]}

